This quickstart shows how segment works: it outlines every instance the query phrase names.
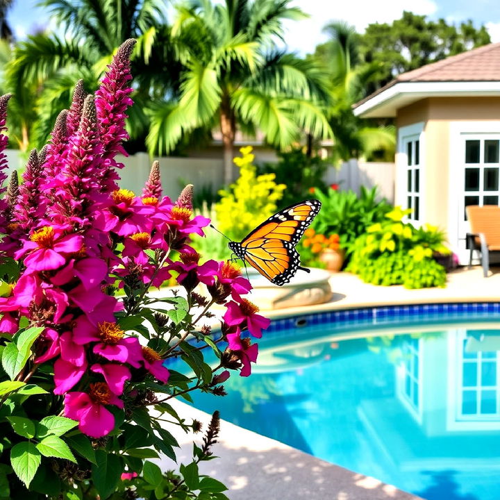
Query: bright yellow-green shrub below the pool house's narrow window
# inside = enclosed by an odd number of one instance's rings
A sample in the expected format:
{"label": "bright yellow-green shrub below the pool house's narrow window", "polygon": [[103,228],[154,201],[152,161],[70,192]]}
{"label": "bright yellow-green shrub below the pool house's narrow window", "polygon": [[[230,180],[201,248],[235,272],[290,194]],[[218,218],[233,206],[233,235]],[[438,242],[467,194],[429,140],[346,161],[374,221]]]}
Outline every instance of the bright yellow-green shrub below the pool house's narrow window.
{"label": "bright yellow-green shrub below the pool house's narrow window", "polygon": [[433,259],[434,253],[449,253],[444,233],[433,226],[415,228],[401,222],[410,211],[394,208],[383,222],[356,238],[347,271],[373,285],[444,287],[446,272]]}

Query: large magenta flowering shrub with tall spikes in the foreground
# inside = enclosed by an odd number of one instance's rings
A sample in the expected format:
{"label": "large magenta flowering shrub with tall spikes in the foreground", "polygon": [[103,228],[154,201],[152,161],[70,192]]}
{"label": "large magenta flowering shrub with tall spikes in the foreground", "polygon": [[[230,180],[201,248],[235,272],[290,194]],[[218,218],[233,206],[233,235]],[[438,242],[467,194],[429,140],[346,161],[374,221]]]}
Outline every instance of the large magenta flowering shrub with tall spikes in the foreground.
{"label": "large magenta flowering shrub with tall spikes in the foreground", "polygon": [[[198,473],[213,458],[217,412],[179,474],[145,459],[175,459],[162,423],[200,424],[169,400],[224,395],[227,369],[248,376],[258,352],[251,338],[269,319],[243,297],[251,285],[238,267],[200,264],[190,237],[210,220],[193,217],[192,186],[176,201],[162,197],[158,165],[142,195],[117,186],[134,43],[119,48],[95,95],[77,84],[22,183],[14,174],[1,190],[0,498],[226,498],[224,485]],[[7,103],[0,98],[2,185]],[[171,274],[183,292],[149,297]],[[205,324],[213,304],[223,306],[219,334]],[[165,360],[176,357],[192,376],[169,371]]]}

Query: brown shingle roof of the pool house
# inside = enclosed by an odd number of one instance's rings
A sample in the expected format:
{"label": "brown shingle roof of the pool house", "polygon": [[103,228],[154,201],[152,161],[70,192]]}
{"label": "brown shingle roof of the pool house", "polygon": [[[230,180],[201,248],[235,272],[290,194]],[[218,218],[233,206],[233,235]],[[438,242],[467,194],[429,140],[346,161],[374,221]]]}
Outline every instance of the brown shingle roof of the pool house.
{"label": "brown shingle roof of the pool house", "polygon": [[500,81],[500,43],[402,73],[396,81]]}

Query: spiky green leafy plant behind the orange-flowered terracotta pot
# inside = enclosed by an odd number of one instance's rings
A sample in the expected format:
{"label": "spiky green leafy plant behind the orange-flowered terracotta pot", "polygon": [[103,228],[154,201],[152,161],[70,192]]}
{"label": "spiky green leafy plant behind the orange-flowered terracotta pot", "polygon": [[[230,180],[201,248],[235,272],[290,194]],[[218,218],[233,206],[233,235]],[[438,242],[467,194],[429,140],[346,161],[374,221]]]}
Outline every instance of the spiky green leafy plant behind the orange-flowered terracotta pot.
{"label": "spiky green leafy plant behind the orange-flowered terracotta pot", "polygon": [[313,222],[313,228],[326,236],[338,233],[340,247],[346,251],[346,256],[352,252],[356,238],[372,224],[383,221],[385,214],[392,210],[392,205],[385,199],[377,201],[376,188],[367,190],[361,186],[359,197],[351,190],[328,188],[326,192],[315,190],[315,197],[322,202],[322,209]]}

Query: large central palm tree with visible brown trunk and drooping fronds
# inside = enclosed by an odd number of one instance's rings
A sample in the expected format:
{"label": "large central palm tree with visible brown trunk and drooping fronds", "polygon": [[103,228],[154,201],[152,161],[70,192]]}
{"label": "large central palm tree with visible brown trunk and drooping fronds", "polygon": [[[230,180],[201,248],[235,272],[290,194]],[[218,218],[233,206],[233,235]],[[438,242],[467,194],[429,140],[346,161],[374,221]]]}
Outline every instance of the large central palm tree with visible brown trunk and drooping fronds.
{"label": "large central palm tree with visible brown trunk and drooping fronds", "polygon": [[[290,0],[189,0],[177,7],[172,26],[183,63],[180,94],[151,115],[149,151],[172,151],[185,133],[219,126],[224,145],[224,180],[233,173],[233,144],[239,128],[261,131],[269,144],[290,146],[301,131],[331,136],[322,103],[328,82],[317,64],[276,50],[283,19],[303,13]],[[190,40],[189,44],[183,44]]]}

